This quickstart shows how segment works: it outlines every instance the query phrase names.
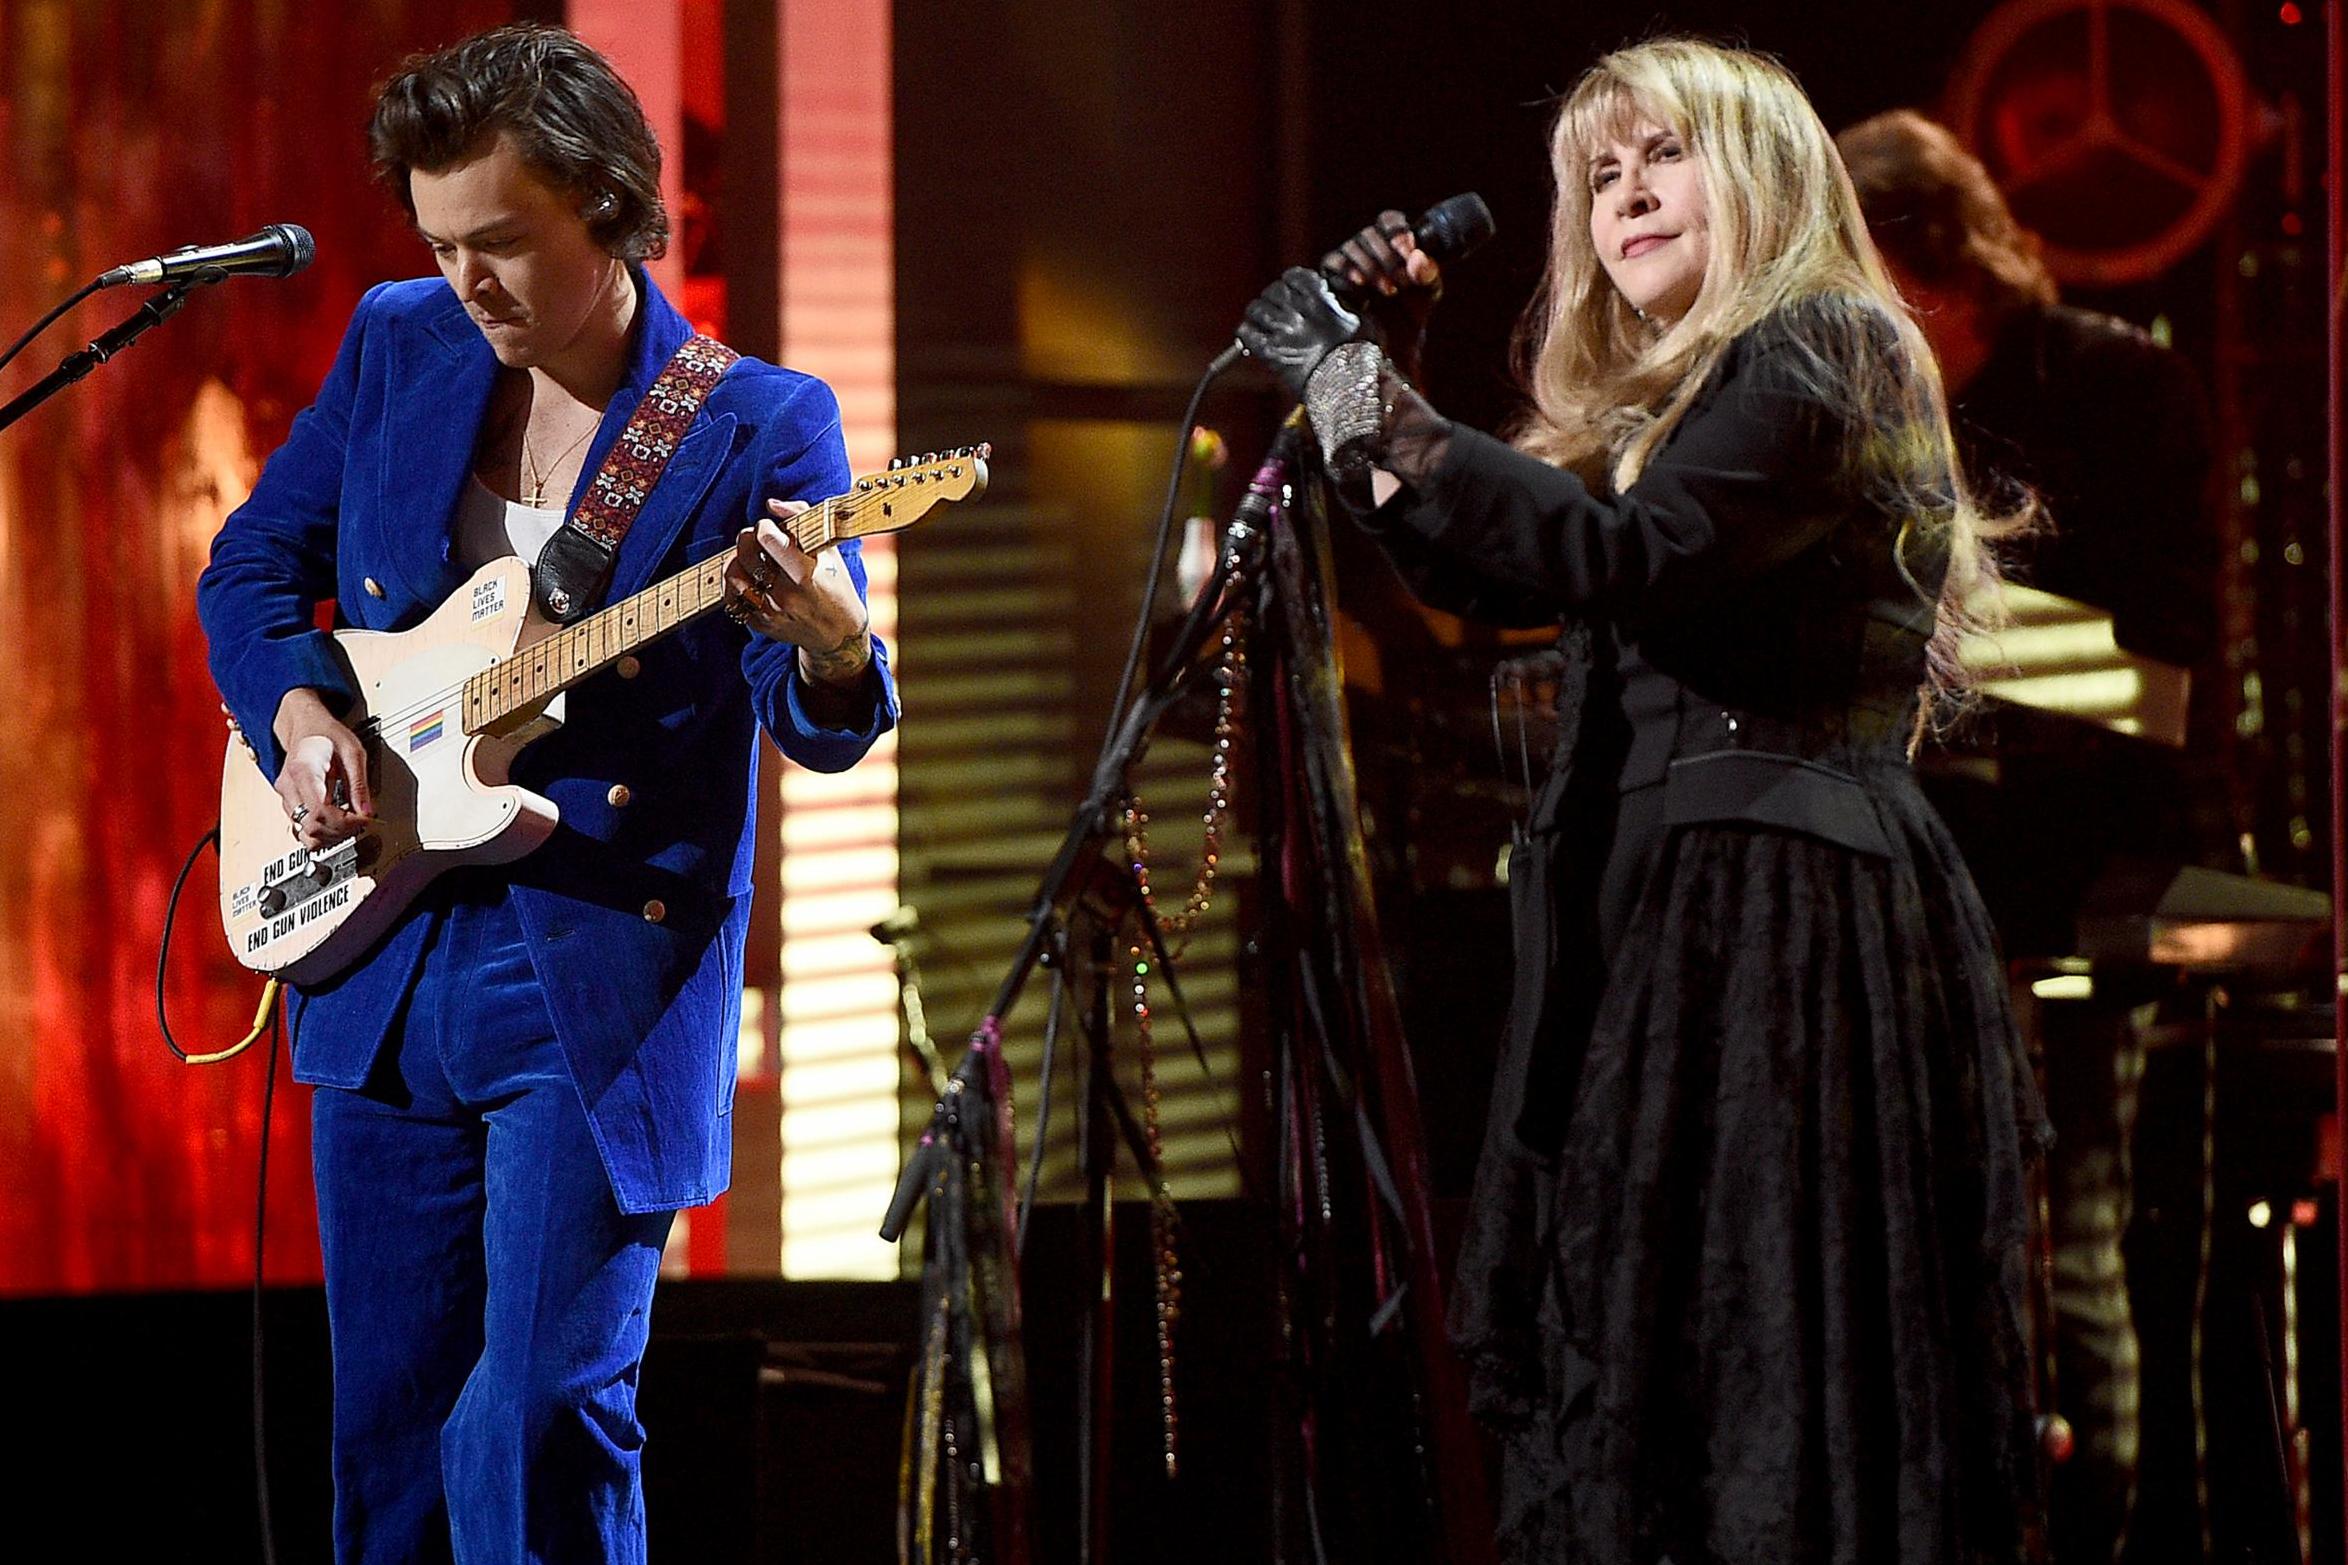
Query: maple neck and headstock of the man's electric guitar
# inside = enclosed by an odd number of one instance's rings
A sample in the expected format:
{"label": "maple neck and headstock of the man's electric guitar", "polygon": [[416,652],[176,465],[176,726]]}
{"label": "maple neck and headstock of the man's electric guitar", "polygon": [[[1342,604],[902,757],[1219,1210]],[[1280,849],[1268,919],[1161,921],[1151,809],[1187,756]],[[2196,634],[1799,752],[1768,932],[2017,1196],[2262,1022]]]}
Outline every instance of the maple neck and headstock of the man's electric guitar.
{"label": "maple neck and headstock of the man's electric guitar", "polygon": [[[857,479],[845,495],[787,516],[782,526],[808,554],[829,549],[843,537],[909,528],[935,504],[981,495],[986,490],[986,455],[989,448],[977,446],[904,462],[885,474]],[[465,732],[477,734],[517,713],[533,711],[636,648],[650,645],[723,605],[728,561],[733,561],[733,549],[481,669],[465,680]]]}

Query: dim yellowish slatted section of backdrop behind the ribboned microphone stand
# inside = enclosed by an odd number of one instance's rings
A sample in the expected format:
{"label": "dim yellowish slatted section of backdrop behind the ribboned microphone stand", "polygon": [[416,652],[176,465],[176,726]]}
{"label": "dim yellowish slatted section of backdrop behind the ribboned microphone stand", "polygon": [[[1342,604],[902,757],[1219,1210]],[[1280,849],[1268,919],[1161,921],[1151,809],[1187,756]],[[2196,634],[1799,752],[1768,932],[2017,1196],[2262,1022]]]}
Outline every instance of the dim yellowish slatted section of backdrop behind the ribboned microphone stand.
{"label": "dim yellowish slatted section of backdrop behind the ribboned microphone stand", "polygon": [[[1113,516],[1134,514],[1172,429],[1153,425],[1064,425],[1040,420],[1033,443],[1014,453],[1017,479],[1038,490],[1071,493],[1071,462],[1122,474],[1101,495]],[[1111,462],[1094,467],[1094,462]],[[1148,474],[1148,476],[1146,476]],[[1134,490],[1134,493],[1127,493]],[[1139,509],[1139,507],[1136,507]],[[1106,565],[1087,547],[1092,519],[1050,502],[1005,500],[953,528],[909,542],[902,624],[920,676],[911,685],[918,720],[906,723],[904,894],[918,906],[923,990],[930,1028],[946,1065],[984,1016],[1012,953],[1026,936],[1026,908],[1082,798],[1106,711],[1097,692],[1115,676],[1122,643],[1101,638],[1101,598],[1139,584],[1139,542]],[[1129,570],[1132,575],[1118,575]],[[1115,580],[1113,580],[1115,577]],[[1160,903],[1183,906],[1202,847],[1212,709],[1186,709],[1181,732],[1162,732],[1139,772],[1153,817],[1153,873]],[[1207,1044],[1200,1070],[1174,1007],[1155,995],[1155,1051],[1165,1161],[1176,1197],[1230,1194],[1237,1187],[1230,1133],[1240,1089],[1240,992],[1233,908],[1251,878],[1247,840],[1226,835],[1216,906],[1181,962],[1183,995]],[[1122,967],[1122,950],[1120,950]],[[1012,1014],[1005,1051],[1017,1091],[1019,1157],[1031,1154],[1043,1105],[1043,1023],[1050,974],[1028,981]],[[1075,1018],[1061,1039],[1054,1107],[1040,1197],[1075,1199]],[[1134,1112],[1143,1110],[1141,1051],[1132,1016],[1118,1016],[1118,1077]],[[906,1136],[930,1117],[932,1096],[906,1096]],[[1125,1197],[1141,1194],[1122,1159]],[[1021,1168],[1024,1173],[1024,1168]]]}

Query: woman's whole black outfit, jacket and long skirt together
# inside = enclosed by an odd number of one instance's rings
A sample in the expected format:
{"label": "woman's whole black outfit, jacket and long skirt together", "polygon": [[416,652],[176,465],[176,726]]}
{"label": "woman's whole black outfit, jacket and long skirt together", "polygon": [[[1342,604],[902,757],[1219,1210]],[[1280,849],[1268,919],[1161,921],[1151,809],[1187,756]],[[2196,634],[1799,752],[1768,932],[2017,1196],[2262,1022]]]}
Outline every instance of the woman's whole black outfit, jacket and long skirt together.
{"label": "woman's whole black outfit, jacket and long skirt together", "polygon": [[1439,608],[1566,624],[1451,1312],[1507,1560],[2024,1556],[2040,1117],[1907,765],[1942,568],[1813,389],[1850,352],[1881,317],[1799,305],[1622,495],[1458,429],[1369,519]]}

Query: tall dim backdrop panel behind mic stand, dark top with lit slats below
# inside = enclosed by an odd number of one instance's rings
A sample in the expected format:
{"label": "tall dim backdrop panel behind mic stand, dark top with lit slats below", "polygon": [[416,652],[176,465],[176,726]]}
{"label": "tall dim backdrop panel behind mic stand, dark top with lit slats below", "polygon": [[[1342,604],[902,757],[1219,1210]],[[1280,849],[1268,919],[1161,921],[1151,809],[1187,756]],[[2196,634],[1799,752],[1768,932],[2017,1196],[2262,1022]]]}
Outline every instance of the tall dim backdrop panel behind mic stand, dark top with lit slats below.
{"label": "tall dim backdrop panel behind mic stand, dark top with lit slats below", "polygon": [[[1277,9],[1277,7],[1275,7]],[[916,446],[996,441],[981,511],[902,542],[909,716],[906,901],[920,908],[930,1025],[958,1056],[1026,929],[1021,915],[1108,718],[1148,565],[1176,413],[1268,256],[1273,89],[1266,7],[970,7],[897,0],[899,415]],[[1200,68],[1200,61],[1219,61]],[[1270,270],[1266,270],[1270,267]],[[1244,394],[1242,394],[1244,399]],[[1268,406],[1268,404],[1266,404]],[[1237,401],[1214,418],[1268,425]],[[1228,507],[1237,474],[1223,474]],[[1172,608],[1172,601],[1165,605]],[[1151,746],[1162,901],[1200,847],[1207,716]],[[1167,1161],[1183,1194],[1235,1190],[1223,1117],[1240,1096],[1242,985],[1230,910],[1247,845],[1183,967],[1214,1084],[1158,1011]],[[1019,1147],[1040,1110],[1050,983],[1010,1018]],[[1139,1110],[1132,1030],[1120,1075]],[[906,1133],[932,1096],[906,1093]],[[1075,1126],[1059,1084],[1045,1199],[1068,1199]],[[1120,1194],[1141,1187],[1129,1176]]]}

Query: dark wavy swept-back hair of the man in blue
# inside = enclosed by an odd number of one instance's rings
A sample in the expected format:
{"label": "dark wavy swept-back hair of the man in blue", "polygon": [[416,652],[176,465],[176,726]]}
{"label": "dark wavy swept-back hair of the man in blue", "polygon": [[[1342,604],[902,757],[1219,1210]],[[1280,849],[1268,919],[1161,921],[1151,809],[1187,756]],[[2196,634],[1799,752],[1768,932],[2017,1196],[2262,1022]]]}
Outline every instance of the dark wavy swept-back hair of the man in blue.
{"label": "dark wavy swept-back hair of the man in blue", "polygon": [[636,92],[566,28],[514,23],[413,54],[376,94],[366,145],[409,218],[409,174],[437,174],[505,131],[521,160],[580,202],[587,232],[622,260],[669,249],[660,141]]}

